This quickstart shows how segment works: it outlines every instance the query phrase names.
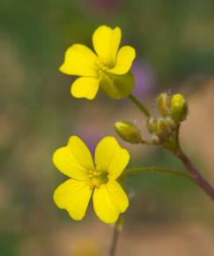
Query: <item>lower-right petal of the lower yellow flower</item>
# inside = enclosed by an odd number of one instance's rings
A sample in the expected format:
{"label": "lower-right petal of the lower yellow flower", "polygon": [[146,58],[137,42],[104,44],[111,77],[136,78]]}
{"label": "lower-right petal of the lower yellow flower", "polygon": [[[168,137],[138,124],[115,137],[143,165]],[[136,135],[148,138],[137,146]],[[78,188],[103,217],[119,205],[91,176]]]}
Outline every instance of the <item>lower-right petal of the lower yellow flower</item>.
{"label": "lower-right petal of the lower yellow flower", "polygon": [[95,188],[92,195],[93,207],[101,221],[114,223],[126,211],[129,200],[120,184],[111,180]]}

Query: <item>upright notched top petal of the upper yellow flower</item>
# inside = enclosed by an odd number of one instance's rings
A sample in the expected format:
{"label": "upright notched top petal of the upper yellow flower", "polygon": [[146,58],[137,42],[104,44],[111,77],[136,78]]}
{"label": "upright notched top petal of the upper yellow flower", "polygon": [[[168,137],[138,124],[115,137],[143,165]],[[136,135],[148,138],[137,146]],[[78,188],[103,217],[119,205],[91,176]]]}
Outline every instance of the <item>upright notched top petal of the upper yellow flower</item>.
{"label": "upright notched top petal of the upper yellow flower", "polygon": [[101,62],[113,66],[121,42],[122,32],[119,27],[99,26],[92,35],[93,48]]}

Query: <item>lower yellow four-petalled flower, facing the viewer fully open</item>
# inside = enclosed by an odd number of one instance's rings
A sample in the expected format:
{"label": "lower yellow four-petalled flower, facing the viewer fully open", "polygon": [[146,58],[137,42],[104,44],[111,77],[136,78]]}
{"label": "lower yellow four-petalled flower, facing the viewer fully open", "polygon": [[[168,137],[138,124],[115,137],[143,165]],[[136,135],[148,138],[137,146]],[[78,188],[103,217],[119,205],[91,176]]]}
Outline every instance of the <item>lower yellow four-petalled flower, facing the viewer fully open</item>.
{"label": "lower yellow four-petalled flower, facing the viewer fully open", "polygon": [[127,166],[129,153],[114,137],[100,140],[93,162],[85,143],[71,136],[67,146],[55,151],[53,162],[70,177],[56,188],[54,200],[71,218],[83,219],[91,197],[94,211],[103,222],[114,223],[126,211],[129,200],[116,179]]}

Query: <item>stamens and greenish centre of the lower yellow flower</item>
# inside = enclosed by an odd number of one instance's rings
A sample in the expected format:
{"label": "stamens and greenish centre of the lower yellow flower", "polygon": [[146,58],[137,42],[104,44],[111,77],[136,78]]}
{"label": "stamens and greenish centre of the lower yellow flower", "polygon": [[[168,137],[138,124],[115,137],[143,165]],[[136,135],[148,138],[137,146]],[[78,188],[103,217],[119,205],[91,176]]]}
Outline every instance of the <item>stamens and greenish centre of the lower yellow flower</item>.
{"label": "stamens and greenish centre of the lower yellow flower", "polygon": [[106,184],[108,181],[107,171],[97,171],[97,170],[89,170],[89,185],[94,187],[100,187],[100,184]]}

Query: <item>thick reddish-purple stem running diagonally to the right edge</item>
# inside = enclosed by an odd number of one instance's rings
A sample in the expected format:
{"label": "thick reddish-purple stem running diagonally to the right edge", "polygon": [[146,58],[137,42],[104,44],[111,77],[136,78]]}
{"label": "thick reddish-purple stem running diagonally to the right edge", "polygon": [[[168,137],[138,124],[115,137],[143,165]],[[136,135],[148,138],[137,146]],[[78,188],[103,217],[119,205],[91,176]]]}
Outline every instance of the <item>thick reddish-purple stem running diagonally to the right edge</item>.
{"label": "thick reddish-purple stem running diagonally to the right edge", "polygon": [[203,178],[195,165],[188,159],[188,156],[184,154],[181,149],[173,152],[173,154],[183,162],[185,167],[188,169],[191,179],[194,180],[208,196],[210,196],[211,200],[214,200],[214,188]]}

